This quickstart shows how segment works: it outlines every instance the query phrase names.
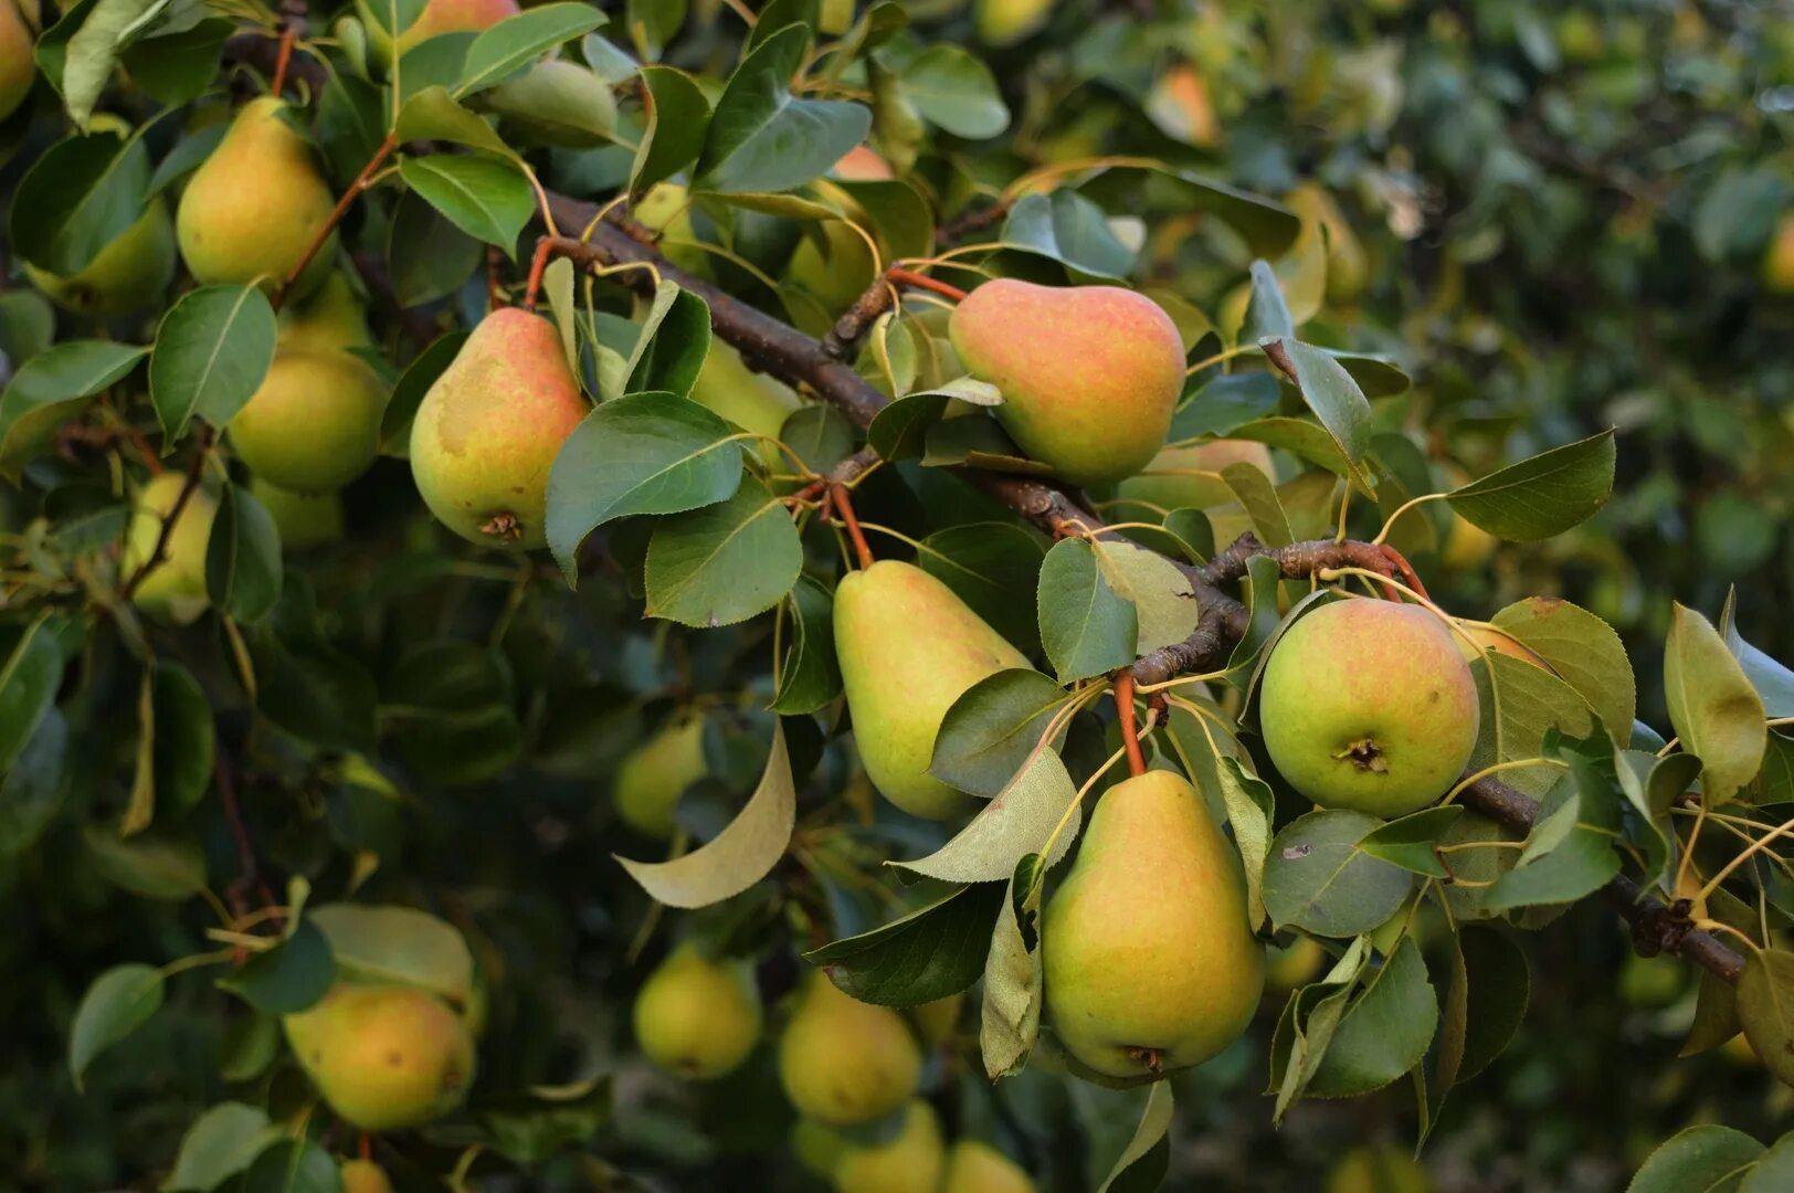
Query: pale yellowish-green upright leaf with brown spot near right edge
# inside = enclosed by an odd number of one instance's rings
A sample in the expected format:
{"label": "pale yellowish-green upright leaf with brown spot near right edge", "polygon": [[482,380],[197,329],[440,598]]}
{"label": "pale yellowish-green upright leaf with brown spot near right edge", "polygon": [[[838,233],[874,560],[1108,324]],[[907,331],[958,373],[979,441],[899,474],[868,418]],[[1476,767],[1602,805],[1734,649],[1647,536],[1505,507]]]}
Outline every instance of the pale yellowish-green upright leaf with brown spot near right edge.
{"label": "pale yellowish-green upright leaf with brown spot near right edge", "polygon": [[1676,605],[1663,644],[1663,698],[1683,750],[1701,759],[1708,802],[1729,800],[1764,766],[1764,701],[1719,630]]}

